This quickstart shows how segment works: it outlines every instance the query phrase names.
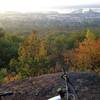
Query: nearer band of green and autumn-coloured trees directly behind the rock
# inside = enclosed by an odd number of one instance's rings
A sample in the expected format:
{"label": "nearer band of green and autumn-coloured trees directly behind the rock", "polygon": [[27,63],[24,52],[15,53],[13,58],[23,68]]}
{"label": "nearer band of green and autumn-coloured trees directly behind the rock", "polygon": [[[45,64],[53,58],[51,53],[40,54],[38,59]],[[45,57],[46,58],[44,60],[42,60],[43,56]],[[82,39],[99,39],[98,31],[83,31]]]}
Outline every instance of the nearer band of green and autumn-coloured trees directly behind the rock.
{"label": "nearer band of green and autumn-coloured trees directly behind the rock", "polygon": [[100,74],[100,33],[64,32],[40,36],[0,35],[0,81],[10,82],[47,73],[92,71]]}

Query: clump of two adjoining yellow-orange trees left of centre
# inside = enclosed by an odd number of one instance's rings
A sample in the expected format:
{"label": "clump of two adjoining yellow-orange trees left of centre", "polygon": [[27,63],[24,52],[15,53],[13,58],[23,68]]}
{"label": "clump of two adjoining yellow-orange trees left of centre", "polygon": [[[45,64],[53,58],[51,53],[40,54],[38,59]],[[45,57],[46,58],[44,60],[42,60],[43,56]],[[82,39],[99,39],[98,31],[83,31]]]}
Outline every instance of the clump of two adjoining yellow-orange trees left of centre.
{"label": "clump of two adjoining yellow-orange trees left of centre", "polygon": [[20,72],[26,73],[26,76],[44,73],[48,62],[46,55],[45,39],[33,32],[19,48]]}

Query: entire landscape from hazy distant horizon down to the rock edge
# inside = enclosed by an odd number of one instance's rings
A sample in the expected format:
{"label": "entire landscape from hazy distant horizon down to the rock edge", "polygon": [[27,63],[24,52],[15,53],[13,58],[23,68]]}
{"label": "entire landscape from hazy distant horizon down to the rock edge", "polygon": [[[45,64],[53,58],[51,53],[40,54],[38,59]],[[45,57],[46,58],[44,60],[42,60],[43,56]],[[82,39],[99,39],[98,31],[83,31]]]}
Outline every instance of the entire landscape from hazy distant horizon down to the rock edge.
{"label": "entire landscape from hazy distant horizon down to the rock edge", "polygon": [[100,74],[100,13],[0,14],[0,82],[42,74],[92,71]]}

